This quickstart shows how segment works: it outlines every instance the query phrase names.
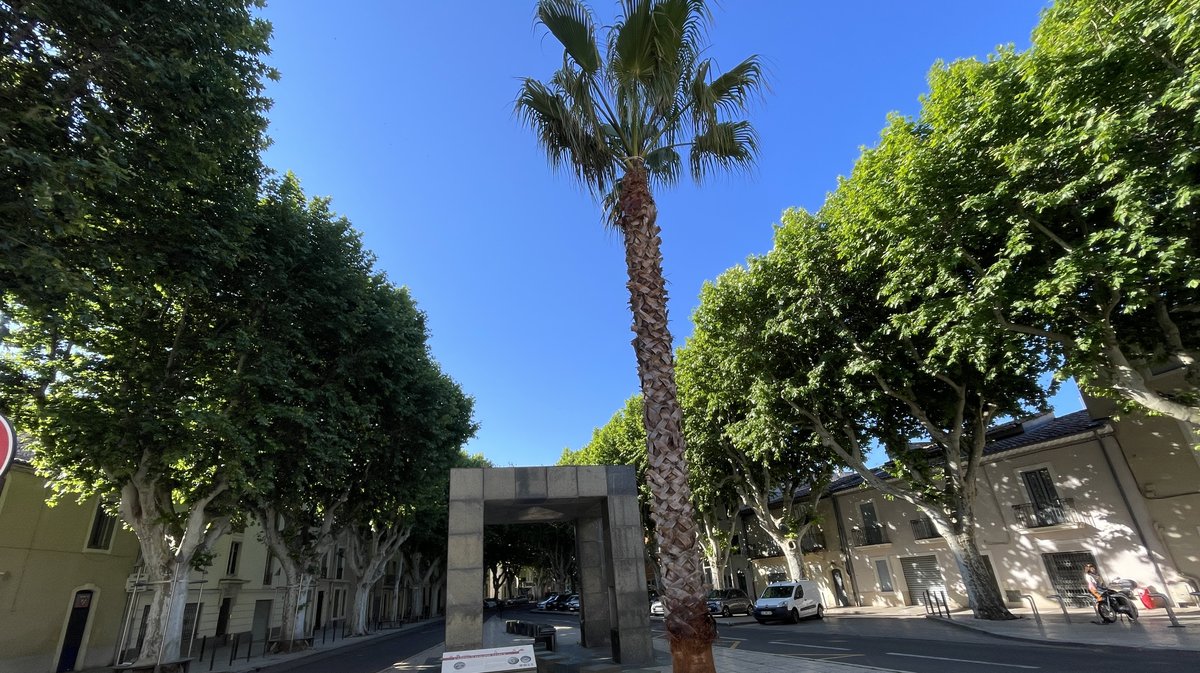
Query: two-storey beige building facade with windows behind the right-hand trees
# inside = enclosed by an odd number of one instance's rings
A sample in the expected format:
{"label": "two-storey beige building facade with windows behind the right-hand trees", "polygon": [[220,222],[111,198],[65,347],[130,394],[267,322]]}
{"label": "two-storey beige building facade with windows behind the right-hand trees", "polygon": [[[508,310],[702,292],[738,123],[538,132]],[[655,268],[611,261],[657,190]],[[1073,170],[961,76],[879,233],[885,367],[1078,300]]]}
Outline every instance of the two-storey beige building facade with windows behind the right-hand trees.
{"label": "two-storey beige building facade with windows behind the right-hand trees", "polygon": [[[1171,419],[1106,417],[1111,408],[1009,423],[989,443],[980,474],[978,542],[1010,607],[1091,605],[1082,566],[1134,579],[1175,605],[1200,589],[1200,452]],[[836,480],[818,504],[818,529],[802,540],[809,578],[829,606],[923,605],[925,593],[966,607],[961,575],[919,510]],[[786,578],[778,548],[752,512],[726,583],[758,591]]]}

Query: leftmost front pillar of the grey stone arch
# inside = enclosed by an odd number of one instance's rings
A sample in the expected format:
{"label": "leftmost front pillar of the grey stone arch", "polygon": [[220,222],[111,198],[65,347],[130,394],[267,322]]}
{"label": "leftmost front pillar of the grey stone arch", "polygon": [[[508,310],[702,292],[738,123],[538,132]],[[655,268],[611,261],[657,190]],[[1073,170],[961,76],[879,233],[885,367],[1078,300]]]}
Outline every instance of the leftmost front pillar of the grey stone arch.
{"label": "leftmost front pillar of the grey stone arch", "polygon": [[448,651],[484,647],[484,470],[450,470]]}

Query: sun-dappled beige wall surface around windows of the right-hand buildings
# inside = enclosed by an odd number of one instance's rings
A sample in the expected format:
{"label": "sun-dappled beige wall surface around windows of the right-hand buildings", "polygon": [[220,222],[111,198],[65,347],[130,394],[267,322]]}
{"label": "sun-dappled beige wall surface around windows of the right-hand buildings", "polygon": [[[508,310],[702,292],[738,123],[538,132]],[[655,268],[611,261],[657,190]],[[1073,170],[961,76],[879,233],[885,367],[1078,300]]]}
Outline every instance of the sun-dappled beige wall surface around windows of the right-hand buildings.
{"label": "sun-dappled beige wall surface around windows of the right-hand buildings", "polygon": [[[1111,411],[1088,403],[1093,415]],[[1040,425],[1031,423],[1026,432]],[[1189,594],[1200,588],[1200,453],[1194,445],[1195,438],[1174,420],[1123,417],[988,456],[977,503],[978,545],[1007,602],[1022,606],[1028,595],[1039,609],[1057,609],[1049,596],[1081,588],[1082,582],[1075,587],[1073,577],[1060,570],[1055,585],[1050,566],[1090,554],[1106,579],[1134,579],[1168,594],[1176,605],[1194,603]],[[1067,521],[1031,523],[1034,495],[1024,473],[1040,470],[1062,500]],[[944,540],[920,539],[913,527],[922,518],[917,507],[863,486],[833,498],[840,519],[829,499],[820,510],[827,548],[805,555],[808,575],[818,581],[828,605],[836,605],[834,569],[842,570],[852,605],[916,605],[920,591],[908,587],[905,567],[928,569],[930,564],[920,561],[931,559],[940,575],[932,584],[946,591],[950,607],[966,607],[961,573]],[[856,542],[856,530],[866,525],[864,504],[874,507],[884,541]],[[838,525],[847,541],[848,567],[839,549]],[[787,572],[782,558],[742,563],[752,566],[760,591],[772,573]]]}

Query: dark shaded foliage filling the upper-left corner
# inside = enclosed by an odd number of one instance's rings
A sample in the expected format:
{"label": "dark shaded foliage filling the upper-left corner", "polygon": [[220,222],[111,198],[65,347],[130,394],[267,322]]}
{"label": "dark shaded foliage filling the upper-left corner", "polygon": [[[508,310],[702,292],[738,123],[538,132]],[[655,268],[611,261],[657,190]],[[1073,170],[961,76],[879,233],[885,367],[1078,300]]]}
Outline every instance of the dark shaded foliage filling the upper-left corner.
{"label": "dark shaded foliage filling the upper-left corner", "polygon": [[254,5],[0,5],[4,302],[56,311],[108,275],[203,283],[192,262],[236,250],[274,77]]}

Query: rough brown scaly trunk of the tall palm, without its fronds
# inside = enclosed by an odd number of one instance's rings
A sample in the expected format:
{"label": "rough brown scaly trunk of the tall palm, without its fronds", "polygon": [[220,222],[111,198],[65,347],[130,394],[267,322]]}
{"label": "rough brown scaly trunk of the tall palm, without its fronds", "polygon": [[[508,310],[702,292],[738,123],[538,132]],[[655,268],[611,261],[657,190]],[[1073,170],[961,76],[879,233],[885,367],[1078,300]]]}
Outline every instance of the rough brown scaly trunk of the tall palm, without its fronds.
{"label": "rough brown scaly trunk of the tall palm, without its fronds", "polygon": [[654,519],[662,564],[666,630],[672,671],[712,673],[716,627],[704,601],[697,527],[688,486],[688,462],[676,393],[674,353],[667,324],[667,292],[658,211],[641,160],[629,161],[620,194],[620,229],[629,268],[629,306],[634,313],[634,351],[644,398]]}

